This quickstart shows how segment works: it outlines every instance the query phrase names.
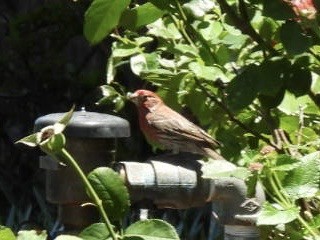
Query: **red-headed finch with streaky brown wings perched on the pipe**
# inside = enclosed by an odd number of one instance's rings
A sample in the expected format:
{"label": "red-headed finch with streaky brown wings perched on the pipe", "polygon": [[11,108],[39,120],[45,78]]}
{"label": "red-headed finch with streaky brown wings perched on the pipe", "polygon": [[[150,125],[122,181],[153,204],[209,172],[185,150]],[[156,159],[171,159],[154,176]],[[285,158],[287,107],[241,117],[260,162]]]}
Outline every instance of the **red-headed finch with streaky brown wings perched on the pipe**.
{"label": "red-headed finch with streaky brown wings perched on the pipe", "polygon": [[197,125],[164,104],[148,90],[129,95],[139,112],[139,125],[147,140],[174,152],[192,152],[212,159],[223,159],[214,149],[220,144]]}

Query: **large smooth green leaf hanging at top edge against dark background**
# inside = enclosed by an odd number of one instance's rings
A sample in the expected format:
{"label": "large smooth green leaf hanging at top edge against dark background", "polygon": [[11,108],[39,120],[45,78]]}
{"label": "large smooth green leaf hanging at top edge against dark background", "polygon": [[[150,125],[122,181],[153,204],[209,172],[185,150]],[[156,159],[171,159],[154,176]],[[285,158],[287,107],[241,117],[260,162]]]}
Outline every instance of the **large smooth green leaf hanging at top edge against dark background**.
{"label": "large smooth green leaf hanging at top edge against dark background", "polygon": [[97,44],[115,28],[130,0],[94,0],[85,13],[84,35]]}

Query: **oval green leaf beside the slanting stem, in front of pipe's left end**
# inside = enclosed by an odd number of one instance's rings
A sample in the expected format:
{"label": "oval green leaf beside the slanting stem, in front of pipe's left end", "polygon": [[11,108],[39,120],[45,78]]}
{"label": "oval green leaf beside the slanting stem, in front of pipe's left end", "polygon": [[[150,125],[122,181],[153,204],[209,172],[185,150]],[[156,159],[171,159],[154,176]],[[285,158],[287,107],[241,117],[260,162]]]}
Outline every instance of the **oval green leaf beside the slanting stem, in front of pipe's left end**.
{"label": "oval green leaf beside the slanting stem, in front of pipe's left end", "polygon": [[102,200],[108,216],[121,220],[129,210],[129,194],[120,176],[110,168],[99,167],[88,175],[88,180]]}

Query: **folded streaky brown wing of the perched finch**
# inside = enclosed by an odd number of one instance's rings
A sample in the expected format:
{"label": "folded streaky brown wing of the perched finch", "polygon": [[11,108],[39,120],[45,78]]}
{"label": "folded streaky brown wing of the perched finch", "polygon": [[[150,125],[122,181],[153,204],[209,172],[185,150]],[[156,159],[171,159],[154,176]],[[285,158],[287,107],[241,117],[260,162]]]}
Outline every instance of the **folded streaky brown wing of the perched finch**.
{"label": "folded streaky brown wing of the perched finch", "polygon": [[186,141],[207,142],[212,147],[220,146],[218,141],[179,113],[167,106],[162,106],[162,108],[161,111],[150,113],[152,121],[149,121],[149,124],[159,133],[164,132],[173,138]]}

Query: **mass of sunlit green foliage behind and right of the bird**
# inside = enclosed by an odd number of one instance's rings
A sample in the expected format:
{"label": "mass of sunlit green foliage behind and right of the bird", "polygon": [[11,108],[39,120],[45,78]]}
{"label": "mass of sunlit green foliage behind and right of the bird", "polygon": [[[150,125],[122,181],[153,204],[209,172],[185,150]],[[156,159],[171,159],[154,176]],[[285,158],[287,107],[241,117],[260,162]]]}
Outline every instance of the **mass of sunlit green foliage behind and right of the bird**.
{"label": "mass of sunlit green foliage behind and right of the bird", "polygon": [[[110,5],[114,17],[94,14]],[[262,229],[320,234],[320,31],[312,1],[93,1],[85,29],[94,30],[86,32],[92,44],[114,39],[109,90],[129,64],[173,108],[188,108],[227,159],[251,170],[248,185],[263,183],[269,199],[258,224],[277,226]]]}

